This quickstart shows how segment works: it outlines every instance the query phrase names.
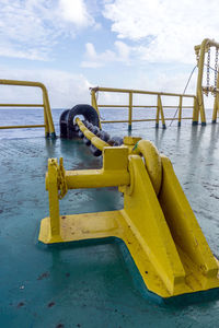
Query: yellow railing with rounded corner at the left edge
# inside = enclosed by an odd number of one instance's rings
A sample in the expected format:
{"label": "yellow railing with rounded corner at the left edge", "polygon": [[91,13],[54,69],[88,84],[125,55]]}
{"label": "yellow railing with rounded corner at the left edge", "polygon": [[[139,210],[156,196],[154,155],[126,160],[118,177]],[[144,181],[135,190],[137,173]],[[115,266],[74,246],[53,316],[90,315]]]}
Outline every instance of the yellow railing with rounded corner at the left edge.
{"label": "yellow railing with rounded corner at the left edge", "polygon": [[45,128],[45,136],[56,138],[50,104],[46,86],[39,82],[16,81],[16,80],[0,80],[1,85],[20,85],[41,87],[43,93],[43,104],[0,104],[0,107],[43,107],[44,124],[43,125],[25,125],[25,126],[1,126],[0,129],[22,129],[22,128]]}

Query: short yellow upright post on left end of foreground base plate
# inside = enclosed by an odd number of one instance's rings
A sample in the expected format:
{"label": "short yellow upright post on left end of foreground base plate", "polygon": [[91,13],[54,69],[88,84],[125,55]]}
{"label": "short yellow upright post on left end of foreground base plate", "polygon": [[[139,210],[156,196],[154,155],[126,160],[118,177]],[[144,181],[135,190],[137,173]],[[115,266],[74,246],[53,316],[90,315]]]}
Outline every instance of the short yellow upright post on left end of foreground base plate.
{"label": "short yellow upright post on left end of foreground base plate", "polygon": [[58,199],[58,163],[57,159],[48,160],[48,201],[50,216],[50,243],[61,241]]}

